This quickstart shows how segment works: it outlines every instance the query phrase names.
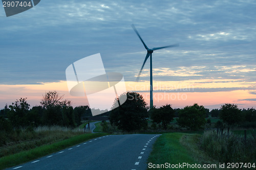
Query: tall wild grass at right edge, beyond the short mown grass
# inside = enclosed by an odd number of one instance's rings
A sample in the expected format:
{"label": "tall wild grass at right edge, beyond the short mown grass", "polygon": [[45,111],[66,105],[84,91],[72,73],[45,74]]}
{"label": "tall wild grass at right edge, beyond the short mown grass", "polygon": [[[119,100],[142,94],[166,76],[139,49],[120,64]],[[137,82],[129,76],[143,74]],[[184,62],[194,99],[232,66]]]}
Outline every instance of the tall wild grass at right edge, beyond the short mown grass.
{"label": "tall wild grass at right edge, beyond the short mown grass", "polygon": [[256,138],[254,134],[217,135],[215,131],[205,131],[202,136],[202,148],[208,155],[219,162],[255,162]]}

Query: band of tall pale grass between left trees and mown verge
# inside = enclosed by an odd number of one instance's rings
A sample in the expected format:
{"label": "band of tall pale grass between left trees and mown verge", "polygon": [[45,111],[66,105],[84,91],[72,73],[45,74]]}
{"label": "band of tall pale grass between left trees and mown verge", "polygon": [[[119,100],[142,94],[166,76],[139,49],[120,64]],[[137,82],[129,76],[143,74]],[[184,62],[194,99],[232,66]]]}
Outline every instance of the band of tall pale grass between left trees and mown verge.
{"label": "band of tall pale grass between left trees and mown verge", "polygon": [[40,126],[32,130],[16,129],[11,133],[1,132],[0,158],[81,134],[82,129],[60,126]]}

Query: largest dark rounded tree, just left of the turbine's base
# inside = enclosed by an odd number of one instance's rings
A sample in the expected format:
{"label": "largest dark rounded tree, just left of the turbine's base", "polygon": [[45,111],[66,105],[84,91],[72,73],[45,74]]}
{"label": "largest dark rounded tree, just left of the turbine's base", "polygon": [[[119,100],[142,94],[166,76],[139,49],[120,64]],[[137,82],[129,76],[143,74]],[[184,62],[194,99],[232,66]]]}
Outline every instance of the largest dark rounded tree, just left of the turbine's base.
{"label": "largest dark rounded tree, just left of the turbine's base", "polygon": [[[143,97],[136,92],[123,93],[119,98],[127,96],[127,100],[119,107],[111,110],[109,116],[111,125],[124,131],[140,130],[147,127],[147,109],[149,108]],[[112,108],[118,105],[115,100]]]}

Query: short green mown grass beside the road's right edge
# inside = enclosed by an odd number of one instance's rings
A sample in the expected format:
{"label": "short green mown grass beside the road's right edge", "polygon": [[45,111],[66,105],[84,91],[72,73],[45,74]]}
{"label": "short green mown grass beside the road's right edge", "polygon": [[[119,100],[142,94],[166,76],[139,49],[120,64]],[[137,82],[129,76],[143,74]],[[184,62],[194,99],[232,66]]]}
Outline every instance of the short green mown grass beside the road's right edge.
{"label": "short green mown grass beside the road's right edge", "polygon": [[[153,164],[219,164],[209,158],[199,147],[199,134],[166,133],[162,134],[154,143],[153,151],[148,163]],[[148,168],[150,169],[150,168]],[[156,168],[168,169],[168,168]],[[174,168],[175,169],[175,168]],[[184,169],[195,169],[184,167]],[[210,168],[209,168],[210,169]]]}

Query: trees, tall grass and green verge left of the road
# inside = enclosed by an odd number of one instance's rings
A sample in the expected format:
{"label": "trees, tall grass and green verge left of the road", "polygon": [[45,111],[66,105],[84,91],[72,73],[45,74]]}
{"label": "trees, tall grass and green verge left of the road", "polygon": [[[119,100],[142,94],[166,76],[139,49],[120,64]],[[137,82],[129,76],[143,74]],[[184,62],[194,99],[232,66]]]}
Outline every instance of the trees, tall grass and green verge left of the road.
{"label": "trees, tall grass and green verge left of the road", "polygon": [[88,106],[73,109],[56,91],[47,92],[40,106],[30,108],[26,98],[6,105],[0,110],[0,169],[106,135],[84,134],[86,116],[92,116]]}

